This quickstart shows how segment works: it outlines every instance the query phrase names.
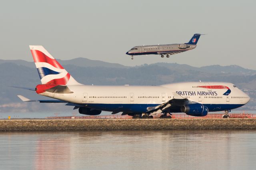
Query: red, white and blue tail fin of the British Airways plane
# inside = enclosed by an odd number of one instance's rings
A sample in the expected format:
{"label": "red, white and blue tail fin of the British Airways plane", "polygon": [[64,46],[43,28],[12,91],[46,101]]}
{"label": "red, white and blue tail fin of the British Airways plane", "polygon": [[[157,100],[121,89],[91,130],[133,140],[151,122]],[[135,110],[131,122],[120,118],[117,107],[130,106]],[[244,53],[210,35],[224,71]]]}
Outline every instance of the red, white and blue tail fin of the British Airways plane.
{"label": "red, white and blue tail fin of the British Airways plane", "polygon": [[29,45],[42,84],[80,85],[42,45]]}

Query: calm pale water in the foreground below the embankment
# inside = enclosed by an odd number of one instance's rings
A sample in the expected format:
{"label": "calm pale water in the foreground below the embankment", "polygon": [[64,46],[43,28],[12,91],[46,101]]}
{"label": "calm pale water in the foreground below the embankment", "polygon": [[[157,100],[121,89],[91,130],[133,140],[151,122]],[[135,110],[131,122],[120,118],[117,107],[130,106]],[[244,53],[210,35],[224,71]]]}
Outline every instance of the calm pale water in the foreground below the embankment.
{"label": "calm pale water in the foreground below the embankment", "polygon": [[0,169],[255,169],[256,131],[0,133]]}

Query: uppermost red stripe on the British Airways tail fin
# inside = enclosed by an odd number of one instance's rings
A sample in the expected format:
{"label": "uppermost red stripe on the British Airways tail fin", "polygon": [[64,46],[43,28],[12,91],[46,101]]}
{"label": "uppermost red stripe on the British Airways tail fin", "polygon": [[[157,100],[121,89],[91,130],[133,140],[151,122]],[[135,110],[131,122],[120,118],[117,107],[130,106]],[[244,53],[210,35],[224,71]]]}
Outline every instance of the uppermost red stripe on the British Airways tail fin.
{"label": "uppermost red stripe on the British Airways tail fin", "polygon": [[64,69],[60,65],[60,63],[58,63],[58,61],[56,61],[56,59],[51,59],[50,57],[48,57],[47,55],[45,55],[41,51],[38,51],[36,49],[31,49],[30,51],[32,53],[32,56],[34,58],[35,63],[37,63],[37,62],[49,63],[53,67],[56,67],[58,69]]}

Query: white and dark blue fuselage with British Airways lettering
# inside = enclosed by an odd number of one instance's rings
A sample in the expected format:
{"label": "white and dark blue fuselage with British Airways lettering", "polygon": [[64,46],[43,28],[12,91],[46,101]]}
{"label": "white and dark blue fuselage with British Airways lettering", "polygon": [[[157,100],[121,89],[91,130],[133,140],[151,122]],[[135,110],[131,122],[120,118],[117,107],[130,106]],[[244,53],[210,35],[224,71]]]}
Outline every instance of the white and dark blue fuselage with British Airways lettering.
{"label": "white and dark blue fuselage with British Airways lettering", "polygon": [[[102,111],[134,113],[144,113],[147,107],[173,99],[173,93],[201,103],[207,106],[209,111],[235,109],[250,100],[248,95],[232,83],[223,82],[188,82],[160,86],[68,85],[68,88],[73,93],[44,92],[40,95]],[[180,112],[180,108],[174,108],[172,112]]]}

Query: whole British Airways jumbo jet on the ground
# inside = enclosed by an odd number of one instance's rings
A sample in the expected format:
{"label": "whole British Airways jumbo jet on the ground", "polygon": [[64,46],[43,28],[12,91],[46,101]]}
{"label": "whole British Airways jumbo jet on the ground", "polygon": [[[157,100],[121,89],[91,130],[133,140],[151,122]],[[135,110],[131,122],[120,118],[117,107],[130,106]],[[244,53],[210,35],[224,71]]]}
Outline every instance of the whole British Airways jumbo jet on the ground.
{"label": "whole British Airways jumbo jet on the ground", "polygon": [[[18,95],[22,101],[40,103],[66,103],[78,109],[80,114],[99,115],[102,111],[112,114],[122,112],[133,118],[171,118],[167,113],[186,113],[192,116],[206,116],[208,112],[228,111],[249,102],[250,97],[232,83],[187,82],[160,86],[97,86],[78,83],[44,49],[30,45],[36,68],[42,84],[35,89],[39,95],[57,100],[30,100]],[[228,118],[228,115],[226,115]]]}

